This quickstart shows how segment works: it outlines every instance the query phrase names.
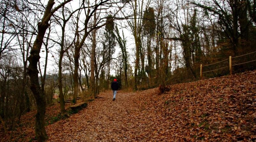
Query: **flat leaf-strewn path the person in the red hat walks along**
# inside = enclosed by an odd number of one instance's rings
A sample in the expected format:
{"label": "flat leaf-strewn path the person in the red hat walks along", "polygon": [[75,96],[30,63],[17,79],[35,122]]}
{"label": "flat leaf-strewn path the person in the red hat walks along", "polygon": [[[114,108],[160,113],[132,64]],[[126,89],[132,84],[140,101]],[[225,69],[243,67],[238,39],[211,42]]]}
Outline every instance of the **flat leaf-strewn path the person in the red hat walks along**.
{"label": "flat leaf-strewn path the person in the red hat walks along", "polygon": [[[152,137],[154,126],[159,120],[154,118],[156,113],[145,109],[147,100],[151,98],[147,95],[152,95],[156,90],[149,89],[143,91],[144,93],[140,92],[140,95],[138,92],[118,91],[116,101],[112,101],[112,91],[101,93],[99,96],[103,98],[90,102],[88,107],[79,113],[46,127],[48,141],[156,140]],[[153,101],[152,98],[150,101]]]}

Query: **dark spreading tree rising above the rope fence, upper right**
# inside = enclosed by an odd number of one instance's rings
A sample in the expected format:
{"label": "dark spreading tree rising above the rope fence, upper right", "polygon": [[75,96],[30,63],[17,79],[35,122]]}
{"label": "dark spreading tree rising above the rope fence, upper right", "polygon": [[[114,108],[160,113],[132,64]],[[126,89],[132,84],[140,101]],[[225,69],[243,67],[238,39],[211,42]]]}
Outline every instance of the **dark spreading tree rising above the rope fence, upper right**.
{"label": "dark spreading tree rising above the rope fence, upper right", "polygon": [[247,16],[247,11],[251,8],[251,3],[246,0],[227,0],[221,2],[213,0],[211,3],[211,6],[207,6],[192,2],[192,4],[208,11],[208,14],[219,19],[218,23],[232,45],[230,49],[233,51],[233,54],[237,56],[239,38],[241,37],[245,41],[248,39],[248,28],[252,24],[252,21],[255,20],[255,12],[249,11],[249,13],[251,12],[251,19],[248,19]]}

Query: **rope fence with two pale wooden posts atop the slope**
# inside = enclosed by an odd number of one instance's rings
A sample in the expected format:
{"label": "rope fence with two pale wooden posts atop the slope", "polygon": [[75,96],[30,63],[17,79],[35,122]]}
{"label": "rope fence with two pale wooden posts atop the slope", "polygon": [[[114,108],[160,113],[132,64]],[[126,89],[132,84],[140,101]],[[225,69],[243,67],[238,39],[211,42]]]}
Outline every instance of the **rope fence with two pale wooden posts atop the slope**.
{"label": "rope fence with two pale wooden posts atop the slope", "polygon": [[[255,69],[256,68],[256,51],[231,57],[229,56],[228,59],[224,59],[222,61],[207,64],[207,65],[200,65],[200,78],[204,76],[207,77],[216,77],[225,74],[232,74],[232,72],[242,72],[246,69]],[[250,63],[250,64],[249,64]],[[229,68],[229,70],[227,69]]]}

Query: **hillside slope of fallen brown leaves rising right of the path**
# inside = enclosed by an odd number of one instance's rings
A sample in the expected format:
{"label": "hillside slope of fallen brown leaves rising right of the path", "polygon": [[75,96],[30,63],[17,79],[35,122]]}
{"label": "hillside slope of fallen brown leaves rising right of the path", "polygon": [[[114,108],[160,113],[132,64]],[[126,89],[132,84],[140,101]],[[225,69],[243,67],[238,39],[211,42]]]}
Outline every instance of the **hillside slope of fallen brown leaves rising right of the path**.
{"label": "hillside slope of fallen brown leaves rising right of the path", "polygon": [[157,134],[171,141],[256,141],[256,71],[171,88],[145,110],[158,113]]}

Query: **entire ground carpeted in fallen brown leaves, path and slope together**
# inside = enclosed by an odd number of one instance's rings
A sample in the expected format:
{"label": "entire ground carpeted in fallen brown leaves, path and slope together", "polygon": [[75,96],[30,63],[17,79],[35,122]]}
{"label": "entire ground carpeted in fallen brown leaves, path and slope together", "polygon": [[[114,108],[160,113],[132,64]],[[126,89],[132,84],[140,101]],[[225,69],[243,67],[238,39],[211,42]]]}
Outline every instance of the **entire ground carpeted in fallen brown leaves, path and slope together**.
{"label": "entire ground carpeted in fallen brown leaves, path and slope together", "polygon": [[[158,88],[118,91],[116,101],[110,91],[101,93],[79,113],[47,125],[48,141],[256,141],[256,71],[170,87],[162,95]],[[19,129],[18,140],[34,137],[33,128]],[[10,138],[2,129],[0,136]]]}

